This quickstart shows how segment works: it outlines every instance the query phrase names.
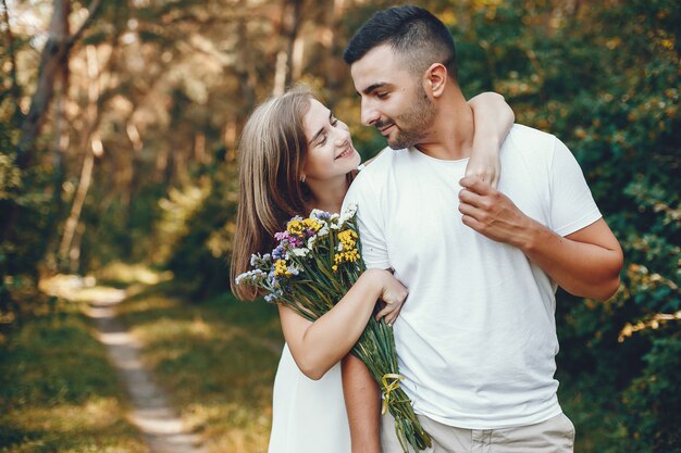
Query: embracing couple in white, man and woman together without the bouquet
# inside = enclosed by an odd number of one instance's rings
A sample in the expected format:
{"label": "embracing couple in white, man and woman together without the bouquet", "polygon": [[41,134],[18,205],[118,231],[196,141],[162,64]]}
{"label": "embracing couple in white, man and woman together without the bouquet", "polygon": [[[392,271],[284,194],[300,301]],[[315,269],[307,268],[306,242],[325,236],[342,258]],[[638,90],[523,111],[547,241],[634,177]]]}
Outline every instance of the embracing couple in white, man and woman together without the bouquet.
{"label": "embracing couple in white, man and woman together without the bouquet", "polygon": [[495,95],[465,100],[451,36],[423,9],[376,13],[344,58],[362,123],[393,150],[357,174],[346,125],[301,89],[259,106],[240,142],[233,276],[292,216],[350,202],[369,268],[314,323],[280,307],[270,452],[401,452],[377,386],[347,355],[376,300],[429,452],[571,452],[556,286],[607,299],[622,263],[579,165],[554,136],[511,126]]}

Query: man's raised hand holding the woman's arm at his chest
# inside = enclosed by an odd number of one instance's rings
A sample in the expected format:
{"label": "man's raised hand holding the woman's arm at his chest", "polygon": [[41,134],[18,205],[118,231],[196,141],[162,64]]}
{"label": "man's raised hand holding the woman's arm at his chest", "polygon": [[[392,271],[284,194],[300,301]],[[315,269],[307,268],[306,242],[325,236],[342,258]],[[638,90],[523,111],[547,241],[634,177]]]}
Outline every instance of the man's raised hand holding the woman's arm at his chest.
{"label": "man's raised hand holding the woman's arm at his chest", "polygon": [[523,249],[531,241],[535,224],[504,193],[475,177],[459,181],[459,211],[463,225],[497,242]]}

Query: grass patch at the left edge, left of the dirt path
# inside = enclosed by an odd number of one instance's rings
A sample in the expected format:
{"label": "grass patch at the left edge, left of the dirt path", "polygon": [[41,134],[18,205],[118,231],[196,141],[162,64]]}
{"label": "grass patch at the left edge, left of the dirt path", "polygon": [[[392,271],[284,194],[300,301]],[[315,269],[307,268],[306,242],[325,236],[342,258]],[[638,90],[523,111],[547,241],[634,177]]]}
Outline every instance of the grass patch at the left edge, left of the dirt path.
{"label": "grass patch at the left edge, left of the dirt path", "polygon": [[58,300],[0,344],[0,452],[148,452],[82,309]]}

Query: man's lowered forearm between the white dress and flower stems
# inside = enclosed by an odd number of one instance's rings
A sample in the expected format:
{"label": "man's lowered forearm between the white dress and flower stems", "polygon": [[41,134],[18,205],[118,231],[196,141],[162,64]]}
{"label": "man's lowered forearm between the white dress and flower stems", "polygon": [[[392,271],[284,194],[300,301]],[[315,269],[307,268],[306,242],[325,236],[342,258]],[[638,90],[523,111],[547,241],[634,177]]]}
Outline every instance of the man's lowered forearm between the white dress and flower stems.
{"label": "man's lowered forearm between the white dress and flower stems", "polygon": [[381,453],[381,392],[362,361],[343,358],[343,393],[350,425],[352,453]]}

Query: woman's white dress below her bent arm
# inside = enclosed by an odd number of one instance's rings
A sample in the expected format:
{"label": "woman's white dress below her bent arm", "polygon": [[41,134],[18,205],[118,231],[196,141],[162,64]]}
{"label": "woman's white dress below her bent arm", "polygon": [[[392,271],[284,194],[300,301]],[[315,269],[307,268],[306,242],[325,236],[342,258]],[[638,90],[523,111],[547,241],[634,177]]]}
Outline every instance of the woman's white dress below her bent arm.
{"label": "woman's white dress below her bent arm", "polygon": [[285,344],[273,393],[268,453],[350,452],[339,363],[320,380],[309,379]]}

